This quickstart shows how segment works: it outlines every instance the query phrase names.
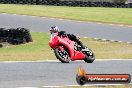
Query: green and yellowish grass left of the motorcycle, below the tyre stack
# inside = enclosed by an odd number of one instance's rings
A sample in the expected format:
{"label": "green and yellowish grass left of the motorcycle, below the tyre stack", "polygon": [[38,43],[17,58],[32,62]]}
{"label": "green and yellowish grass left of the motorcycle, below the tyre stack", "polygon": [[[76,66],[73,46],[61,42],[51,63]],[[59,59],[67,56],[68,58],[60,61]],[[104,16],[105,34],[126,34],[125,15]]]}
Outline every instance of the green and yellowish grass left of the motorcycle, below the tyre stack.
{"label": "green and yellowish grass left of the motorcycle, below the tyre stack", "polygon": [[33,42],[0,48],[0,61],[28,61],[55,59],[48,46],[49,35],[32,33]]}

